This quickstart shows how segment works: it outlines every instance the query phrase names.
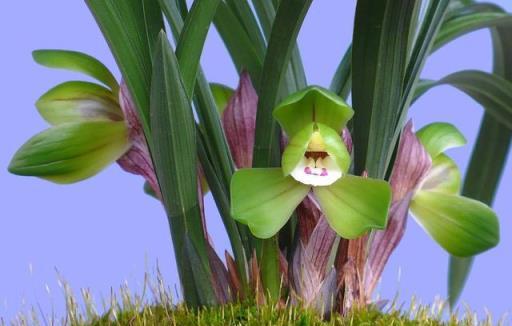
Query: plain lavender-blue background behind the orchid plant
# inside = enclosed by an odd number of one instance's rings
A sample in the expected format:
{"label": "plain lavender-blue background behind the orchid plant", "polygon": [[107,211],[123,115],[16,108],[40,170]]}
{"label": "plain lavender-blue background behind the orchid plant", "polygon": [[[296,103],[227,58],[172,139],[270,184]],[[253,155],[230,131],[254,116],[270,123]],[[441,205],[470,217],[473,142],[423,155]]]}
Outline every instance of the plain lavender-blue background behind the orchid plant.
{"label": "plain lavender-blue background behind the orchid plant", "polygon": [[[507,0],[495,1],[512,10]],[[328,86],[351,39],[355,0],[315,1],[299,36],[311,84]],[[0,317],[40,305],[46,313],[64,312],[58,275],[70,285],[90,288],[98,306],[111,288],[127,282],[142,291],[145,272],[158,265],[169,285],[177,281],[172,244],[160,204],[145,196],[142,180],[111,166],[97,177],[73,186],[9,175],[6,167],[16,149],[46,128],[34,102],[50,87],[80,75],[36,65],[31,51],[64,48],[84,51],[119,76],[99,29],[82,1],[6,1],[0,11]],[[236,72],[212,29],[202,58],[211,81],[235,86]],[[487,31],[463,37],[433,55],[423,77],[440,78],[461,69],[491,69]],[[411,110],[419,128],[449,121],[467,136],[469,145],[450,154],[465,170],[482,109],[449,87],[439,87]],[[478,257],[463,301],[499,317],[512,311],[510,263],[512,245],[512,164],[504,172],[495,209],[501,217],[498,248]],[[227,237],[215,207],[207,199],[208,223],[223,251]],[[416,295],[431,302],[446,293],[447,255],[410,221],[406,236],[391,258],[379,291],[383,297],[409,301]],[[78,292],[78,291],[77,291]]]}

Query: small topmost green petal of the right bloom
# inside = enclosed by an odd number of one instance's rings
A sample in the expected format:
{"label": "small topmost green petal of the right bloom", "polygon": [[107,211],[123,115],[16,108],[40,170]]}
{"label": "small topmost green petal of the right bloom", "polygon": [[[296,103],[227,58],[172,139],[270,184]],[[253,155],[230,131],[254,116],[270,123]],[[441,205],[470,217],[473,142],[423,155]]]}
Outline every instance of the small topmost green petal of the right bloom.
{"label": "small topmost green petal of the right bloom", "polygon": [[464,135],[449,123],[431,123],[418,130],[416,136],[418,136],[432,158],[435,158],[447,149],[466,145]]}

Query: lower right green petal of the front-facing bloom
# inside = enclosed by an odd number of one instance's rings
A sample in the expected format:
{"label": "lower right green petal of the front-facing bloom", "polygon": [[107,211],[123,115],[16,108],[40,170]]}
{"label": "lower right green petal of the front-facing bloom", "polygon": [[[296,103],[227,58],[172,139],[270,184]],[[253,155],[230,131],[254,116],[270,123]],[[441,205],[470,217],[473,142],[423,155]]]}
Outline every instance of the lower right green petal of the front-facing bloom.
{"label": "lower right green petal of the front-facing bloom", "polygon": [[345,176],[331,186],[313,188],[329,225],[343,238],[384,229],[391,188],[382,180]]}

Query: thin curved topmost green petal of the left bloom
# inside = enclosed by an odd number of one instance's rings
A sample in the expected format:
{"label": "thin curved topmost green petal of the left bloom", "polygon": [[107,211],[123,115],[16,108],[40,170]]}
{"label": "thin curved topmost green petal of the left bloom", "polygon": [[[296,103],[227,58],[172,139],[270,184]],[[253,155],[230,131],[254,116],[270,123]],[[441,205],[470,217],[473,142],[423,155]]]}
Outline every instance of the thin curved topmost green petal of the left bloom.
{"label": "thin curved topmost green petal of the left bloom", "polygon": [[119,84],[110,70],[98,59],[85,53],[66,50],[36,50],[32,52],[32,57],[40,65],[81,72],[110,87],[114,93],[119,90]]}

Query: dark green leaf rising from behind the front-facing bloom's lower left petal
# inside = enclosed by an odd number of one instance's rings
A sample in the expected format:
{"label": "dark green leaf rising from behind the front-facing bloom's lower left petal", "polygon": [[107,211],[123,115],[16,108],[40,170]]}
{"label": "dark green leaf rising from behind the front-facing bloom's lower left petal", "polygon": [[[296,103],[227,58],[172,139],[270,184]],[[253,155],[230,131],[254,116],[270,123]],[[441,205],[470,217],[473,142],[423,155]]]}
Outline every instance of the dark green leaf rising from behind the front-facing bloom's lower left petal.
{"label": "dark green leaf rising from behind the front-facing bloom's lower left petal", "polygon": [[272,118],[278,92],[304,17],[312,0],[282,0],[272,26],[258,88],[258,114],[253,166],[279,164],[279,130]]}

